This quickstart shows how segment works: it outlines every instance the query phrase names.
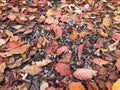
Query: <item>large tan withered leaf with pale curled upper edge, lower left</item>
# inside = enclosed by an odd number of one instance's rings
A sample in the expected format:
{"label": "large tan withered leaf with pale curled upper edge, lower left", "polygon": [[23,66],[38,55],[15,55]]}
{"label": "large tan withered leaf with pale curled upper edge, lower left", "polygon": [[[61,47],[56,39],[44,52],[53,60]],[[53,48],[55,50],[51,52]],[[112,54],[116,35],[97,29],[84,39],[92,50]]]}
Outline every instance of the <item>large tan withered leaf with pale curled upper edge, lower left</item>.
{"label": "large tan withered leaf with pale curled upper edge, lower left", "polygon": [[29,73],[30,75],[36,75],[40,71],[42,71],[43,66],[49,64],[51,60],[42,60],[42,61],[37,61],[37,62],[32,62],[31,65],[25,66],[21,71],[25,73]]}

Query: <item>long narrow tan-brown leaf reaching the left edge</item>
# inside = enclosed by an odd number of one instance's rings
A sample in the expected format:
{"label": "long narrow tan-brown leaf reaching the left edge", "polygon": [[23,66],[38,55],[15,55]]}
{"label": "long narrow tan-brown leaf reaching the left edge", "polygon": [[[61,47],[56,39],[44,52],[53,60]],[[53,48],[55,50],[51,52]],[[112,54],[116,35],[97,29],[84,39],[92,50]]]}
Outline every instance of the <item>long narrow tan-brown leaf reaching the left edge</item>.
{"label": "long narrow tan-brown leaf reaching the left edge", "polygon": [[28,45],[28,44],[22,45],[18,48],[14,48],[14,49],[9,50],[8,52],[4,52],[4,53],[0,52],[0,56],[9,57],[9,56],[12,56],[14,54],[23,54],[23,53],[28,51],[29,47],[30,47],[30,45]]}

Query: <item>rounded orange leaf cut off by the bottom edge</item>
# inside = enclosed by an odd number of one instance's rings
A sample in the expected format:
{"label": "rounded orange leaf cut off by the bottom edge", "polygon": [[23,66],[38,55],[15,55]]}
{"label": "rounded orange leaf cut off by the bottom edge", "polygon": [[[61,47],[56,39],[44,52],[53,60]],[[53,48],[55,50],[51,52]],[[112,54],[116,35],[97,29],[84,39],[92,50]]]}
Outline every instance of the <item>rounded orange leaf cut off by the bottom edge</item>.
{"label": "rounded orange leaf cut off by the bottom edge", "polygon": [[80,82],[71,82],[68,87],[69,90],[85,90],[85,87]]}

